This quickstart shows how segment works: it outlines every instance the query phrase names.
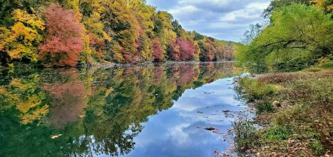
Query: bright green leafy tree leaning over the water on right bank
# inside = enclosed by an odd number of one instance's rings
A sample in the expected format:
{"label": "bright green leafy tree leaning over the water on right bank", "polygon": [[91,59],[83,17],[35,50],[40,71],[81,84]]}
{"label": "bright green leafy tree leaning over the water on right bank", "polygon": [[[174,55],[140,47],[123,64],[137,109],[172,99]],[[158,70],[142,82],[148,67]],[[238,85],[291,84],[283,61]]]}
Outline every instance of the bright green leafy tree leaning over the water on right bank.
{"label": "bright green leafy tree leaning over the water on right bank", "polygon": [[[315,6],[292,4],[273,12],[271,24],[238,55],[246,66],[297,70],[332,54],[333,21]],[[246,60],[245,60],[246,58]]]}

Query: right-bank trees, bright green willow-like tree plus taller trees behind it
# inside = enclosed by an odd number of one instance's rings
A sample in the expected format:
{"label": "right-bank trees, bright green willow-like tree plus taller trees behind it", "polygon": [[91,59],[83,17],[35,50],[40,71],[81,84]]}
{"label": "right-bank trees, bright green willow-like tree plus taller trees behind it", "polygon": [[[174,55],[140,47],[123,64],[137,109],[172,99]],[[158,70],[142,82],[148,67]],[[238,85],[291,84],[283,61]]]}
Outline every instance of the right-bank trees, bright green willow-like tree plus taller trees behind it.
{"label": "right-bank trees, bright green willow-like tree plus taller trees behind it", "polygon": [[237,64],[256,72],[298,71],[333,57],[333,1],[274,0],[264,24],[245,33]]}

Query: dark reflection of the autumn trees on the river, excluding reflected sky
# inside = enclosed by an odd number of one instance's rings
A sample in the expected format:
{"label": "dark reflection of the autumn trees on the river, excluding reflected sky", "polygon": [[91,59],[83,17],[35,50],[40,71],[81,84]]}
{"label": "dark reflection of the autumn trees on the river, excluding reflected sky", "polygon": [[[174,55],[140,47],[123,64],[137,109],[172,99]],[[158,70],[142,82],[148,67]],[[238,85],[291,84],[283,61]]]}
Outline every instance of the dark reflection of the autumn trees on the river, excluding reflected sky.
{"label": "dark reflection of the autumn trees on the river, excluding reflected sky", "polygon": [[231,74],[232,63],[1,71],[0,156],[128,154],[149,116]]}

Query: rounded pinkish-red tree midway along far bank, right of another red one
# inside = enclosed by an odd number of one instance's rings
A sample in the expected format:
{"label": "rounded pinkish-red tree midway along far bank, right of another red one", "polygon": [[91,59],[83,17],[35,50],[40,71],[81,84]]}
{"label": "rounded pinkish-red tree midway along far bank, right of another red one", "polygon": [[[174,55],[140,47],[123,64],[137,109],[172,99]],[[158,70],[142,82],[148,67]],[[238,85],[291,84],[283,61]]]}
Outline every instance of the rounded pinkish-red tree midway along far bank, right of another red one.
{"label": "rounded pinkish-red tree midway along far bank, right of another red one", "polygon": [[196,48],[194,48],[193,44],[190,41],[177,38],[176,42],[180,47],[180,60],[186,61],[194,59],[194,52],[196,51]]}

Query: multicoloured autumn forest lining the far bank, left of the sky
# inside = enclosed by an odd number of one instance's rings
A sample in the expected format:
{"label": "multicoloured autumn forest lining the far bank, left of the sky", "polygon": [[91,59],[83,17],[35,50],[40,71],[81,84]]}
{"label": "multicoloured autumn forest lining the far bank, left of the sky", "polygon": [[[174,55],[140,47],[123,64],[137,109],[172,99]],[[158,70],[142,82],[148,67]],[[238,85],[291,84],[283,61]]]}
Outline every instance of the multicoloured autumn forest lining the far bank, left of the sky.
{"label": "multicoloured autumn forest lining the far bank, left of the sky", "polygon": [[144,0],[0,1],[1,66],[232,60],[237,43],[186,31]]}

